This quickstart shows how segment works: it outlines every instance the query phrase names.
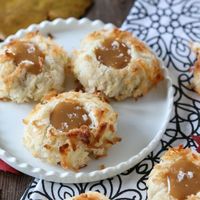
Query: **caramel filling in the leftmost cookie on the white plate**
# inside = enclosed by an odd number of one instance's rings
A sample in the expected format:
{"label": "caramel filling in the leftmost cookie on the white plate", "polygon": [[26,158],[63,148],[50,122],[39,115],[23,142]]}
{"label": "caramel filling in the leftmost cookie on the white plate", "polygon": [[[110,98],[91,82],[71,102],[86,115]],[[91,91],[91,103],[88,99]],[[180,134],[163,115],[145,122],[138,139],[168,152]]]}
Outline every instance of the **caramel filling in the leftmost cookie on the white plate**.
{"label": "caramel filling in the leftmost cookie on the white plate", "polygon": [[16,65],[24,66],[27,72],[35,75],[42,72],[45,56],[33,43],[13,41],[8,45],[6,54],[13,58]]}

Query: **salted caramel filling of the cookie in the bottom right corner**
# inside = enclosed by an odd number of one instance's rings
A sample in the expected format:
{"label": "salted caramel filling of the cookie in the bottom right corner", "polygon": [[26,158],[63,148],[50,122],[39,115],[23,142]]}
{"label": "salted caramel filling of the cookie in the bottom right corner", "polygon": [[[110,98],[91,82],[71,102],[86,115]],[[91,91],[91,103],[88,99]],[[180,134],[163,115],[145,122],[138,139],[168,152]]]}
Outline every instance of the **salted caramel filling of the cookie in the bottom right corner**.
{"label": "salted caramel filling of the cookie in the bottom right corner", "polygon": [[169,193],[184,200],[188,195],[200,191],[200,166],[193,164],[187,158],[180,159],[170,168],[167,174],[167,185]]}

